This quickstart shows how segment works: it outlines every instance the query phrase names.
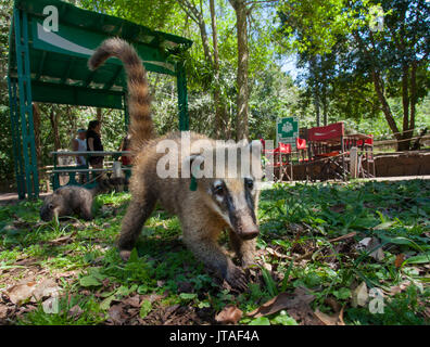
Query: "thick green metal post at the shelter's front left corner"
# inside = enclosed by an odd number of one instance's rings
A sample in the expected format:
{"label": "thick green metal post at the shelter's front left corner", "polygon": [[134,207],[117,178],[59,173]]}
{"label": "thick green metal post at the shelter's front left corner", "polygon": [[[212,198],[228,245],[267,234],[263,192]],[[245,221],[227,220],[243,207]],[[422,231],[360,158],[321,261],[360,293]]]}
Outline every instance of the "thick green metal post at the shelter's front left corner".
{"label": "thick green metal post at the shelter's front left corner", "polygon": [[14,22],[25,183],[27,189],[27,197],[36,198],[39,196],[39,177],[37,172],[33,123],[27,14],[23,11],[14,9]]}

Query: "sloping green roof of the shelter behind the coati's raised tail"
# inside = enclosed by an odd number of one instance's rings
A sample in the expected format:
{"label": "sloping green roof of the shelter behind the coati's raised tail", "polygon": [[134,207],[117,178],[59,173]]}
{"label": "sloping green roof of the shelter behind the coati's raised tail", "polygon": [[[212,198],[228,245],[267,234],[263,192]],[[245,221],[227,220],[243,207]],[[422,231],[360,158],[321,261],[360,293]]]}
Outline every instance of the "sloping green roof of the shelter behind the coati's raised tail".
{"label": "sloping green roof of the shelter behind the coati's raised tail", "polygon": [[[58,9],[59,30],[46,31],[43,9]],[[33,101],[123,108],[125,74],[122,63],[110,59],[96,72],[87,67],[93,50],[117,36],[135,46],[149,72],[176,76],[174,56],[192,41],[151,30],[114,16],[86,11],[59,0],[16,0],[28,21],[28,49]],[[10,37],[9,76],[17,76],[15,31]]]}

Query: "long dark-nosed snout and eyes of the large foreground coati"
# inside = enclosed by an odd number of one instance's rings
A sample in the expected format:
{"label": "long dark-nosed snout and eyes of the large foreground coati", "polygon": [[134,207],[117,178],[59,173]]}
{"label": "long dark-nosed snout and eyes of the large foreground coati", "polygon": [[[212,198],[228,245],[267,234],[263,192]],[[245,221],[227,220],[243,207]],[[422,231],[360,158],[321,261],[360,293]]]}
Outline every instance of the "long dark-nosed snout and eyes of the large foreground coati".
{"label": "long dark-nosed snout and eyes of the large foreground coati", "polygon": [[256,190],[252,178],[215,180],[210,194],[216,211],[242,240],[258,235],[255,217]]}

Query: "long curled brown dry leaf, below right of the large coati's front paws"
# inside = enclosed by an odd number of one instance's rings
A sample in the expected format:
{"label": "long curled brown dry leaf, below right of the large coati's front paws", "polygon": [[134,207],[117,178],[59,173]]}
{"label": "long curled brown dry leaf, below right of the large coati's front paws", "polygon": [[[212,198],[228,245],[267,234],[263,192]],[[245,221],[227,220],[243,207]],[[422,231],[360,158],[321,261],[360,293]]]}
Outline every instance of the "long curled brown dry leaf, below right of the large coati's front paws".
{"label": "long curled brown dry leaf, below right of the large coati's front paws", "polygon": [[315,296],[312,294],[307,294],[306,290],[302,287],[295,288],[293,294],[290,293],[280,293],[275,296],[273,299],[263,304],[257,309],[248,313],[248,316],[258,318],[263,316],[273,314],[280,310],[288,310],[291,308],[300,307],[302,305],[308,305],[315,299]]}

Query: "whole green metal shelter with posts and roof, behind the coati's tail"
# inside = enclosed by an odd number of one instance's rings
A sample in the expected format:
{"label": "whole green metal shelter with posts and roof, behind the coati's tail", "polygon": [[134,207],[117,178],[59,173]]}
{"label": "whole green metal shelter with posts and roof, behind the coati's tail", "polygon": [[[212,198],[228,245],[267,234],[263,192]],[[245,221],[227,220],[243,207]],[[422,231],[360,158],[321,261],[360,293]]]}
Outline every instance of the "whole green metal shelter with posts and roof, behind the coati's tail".
{"label": "whole green metal shelter with posts and roof, behind the coati's tail", "polygon": [[112,36],[132,43],[147,70],[177,77],[179,129],[189,129],[186,74],[178,56],[192,41],[59,0],[15,0],[8,83],[20,198],[39,194],[33,102],[124,110],[128,124],[122,63],[110,59],[94,72],[87,67],[93,50]]}

